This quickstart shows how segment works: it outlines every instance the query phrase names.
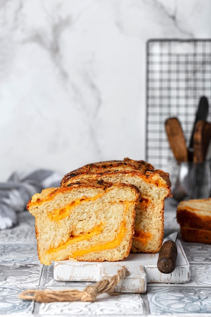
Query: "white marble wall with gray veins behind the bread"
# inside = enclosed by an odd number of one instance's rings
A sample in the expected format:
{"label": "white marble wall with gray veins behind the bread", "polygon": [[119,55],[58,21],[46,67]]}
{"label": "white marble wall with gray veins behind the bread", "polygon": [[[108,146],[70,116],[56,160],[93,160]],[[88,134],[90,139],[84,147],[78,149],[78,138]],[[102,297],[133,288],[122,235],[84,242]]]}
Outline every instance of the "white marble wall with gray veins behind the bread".
{"label": "white marble wall with gray veins behind the bread", "polygon": [[0,0],[0,181],[145,159],[146,41],[210,38],[209,0]]}

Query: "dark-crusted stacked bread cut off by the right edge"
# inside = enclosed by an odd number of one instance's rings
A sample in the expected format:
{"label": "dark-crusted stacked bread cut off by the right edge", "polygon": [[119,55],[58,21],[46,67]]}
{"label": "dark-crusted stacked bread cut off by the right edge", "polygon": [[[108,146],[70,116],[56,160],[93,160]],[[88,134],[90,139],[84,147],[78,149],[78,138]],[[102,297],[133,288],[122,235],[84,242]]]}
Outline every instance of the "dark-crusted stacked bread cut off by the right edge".
{"label": "dark-crusted stacked bread cut off by the right edge", "polygon": [[180,202],[177,221],[184,241],[211,244],[211,198]]}

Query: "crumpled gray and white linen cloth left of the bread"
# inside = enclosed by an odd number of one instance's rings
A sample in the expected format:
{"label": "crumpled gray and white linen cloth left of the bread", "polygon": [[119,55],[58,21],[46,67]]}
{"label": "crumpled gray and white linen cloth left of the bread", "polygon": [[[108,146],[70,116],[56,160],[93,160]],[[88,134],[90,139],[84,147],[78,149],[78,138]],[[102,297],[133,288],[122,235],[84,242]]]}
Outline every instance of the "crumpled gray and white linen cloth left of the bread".
{"label": "crumpled gray and white linen cloth left of the bread", "polygon": [[62,177],[50,170],[37,170],[24,177],[13,173],[7,182],[0,183],[0,229],[18,223],[17,213],[26,210],[31,196],[44,188],[58,187]]}

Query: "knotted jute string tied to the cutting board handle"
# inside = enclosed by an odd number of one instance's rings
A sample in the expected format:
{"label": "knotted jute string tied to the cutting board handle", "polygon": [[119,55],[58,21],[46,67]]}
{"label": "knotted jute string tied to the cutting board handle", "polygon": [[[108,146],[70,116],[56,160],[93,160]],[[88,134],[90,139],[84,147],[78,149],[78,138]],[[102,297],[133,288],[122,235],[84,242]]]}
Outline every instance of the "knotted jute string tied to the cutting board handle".
{"label": "knotted jute string tied to the cutting board handle", "polygon": [[128,269],[123,266],[117,271],[117,274],[112,276],[109,280],[101,280],[94,285],[86,287],[83,291],[78,290],[26,290],[19,294],[19,298],[34,300],[41,303],[50,302],[94,302],[98,295],[107,293],[109,295],[118,295],[114,292],[115,286],[121,279],[124,279],[129,274]]}

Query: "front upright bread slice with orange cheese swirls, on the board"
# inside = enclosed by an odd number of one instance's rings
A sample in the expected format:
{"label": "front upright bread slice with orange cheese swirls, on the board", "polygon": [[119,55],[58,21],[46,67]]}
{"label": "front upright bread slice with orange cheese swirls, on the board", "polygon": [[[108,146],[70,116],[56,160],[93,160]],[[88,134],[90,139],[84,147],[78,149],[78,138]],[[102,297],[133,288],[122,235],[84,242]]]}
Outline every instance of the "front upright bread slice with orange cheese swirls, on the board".
{"label": "front upright bread slice with orange cheese swirls, on the board", "polygon": [[34,194],[27,209],[35,217],[40,262],[123,260],[131,250],[139,199],[133,185],[98,180]]}

